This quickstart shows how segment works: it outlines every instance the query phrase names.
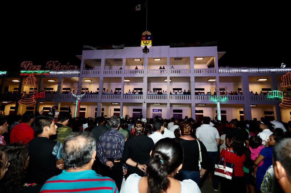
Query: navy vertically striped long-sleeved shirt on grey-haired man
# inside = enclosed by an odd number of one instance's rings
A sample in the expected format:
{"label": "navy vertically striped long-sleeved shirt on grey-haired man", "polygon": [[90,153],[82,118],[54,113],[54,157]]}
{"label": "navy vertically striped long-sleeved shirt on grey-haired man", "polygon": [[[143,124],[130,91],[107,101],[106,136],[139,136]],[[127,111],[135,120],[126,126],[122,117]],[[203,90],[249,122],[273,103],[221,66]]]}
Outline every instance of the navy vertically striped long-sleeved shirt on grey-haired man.
{"label": "navy vertically striped long-sleeved shirt on grey-haired man", "polygon": [[[117,129],[110,129],[102,134],[97,143],[97,155],[103,164],[112,158],[122,158],[123,148],[125,144],[124,136],[118,132]],[[127,169],[127,166],[123,164],[123,167]]]}

